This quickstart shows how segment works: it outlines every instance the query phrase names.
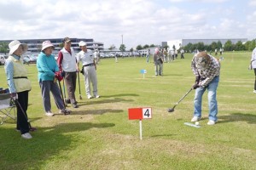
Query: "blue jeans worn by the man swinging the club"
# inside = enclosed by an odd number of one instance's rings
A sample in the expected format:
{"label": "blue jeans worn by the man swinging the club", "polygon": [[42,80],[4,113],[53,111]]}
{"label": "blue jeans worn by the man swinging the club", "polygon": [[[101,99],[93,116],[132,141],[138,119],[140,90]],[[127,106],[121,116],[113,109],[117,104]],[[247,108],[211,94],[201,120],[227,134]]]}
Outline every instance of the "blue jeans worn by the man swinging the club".
{"label": "blue jeans worn by the man swinging the club", "polygon": [[209,106],[209,120],[218,121],[218,104],[216,99],[219,77],[214,77],[207,88],[196,88],[194,99],[194,116],[201,118],[201,99],[202,95],[208,90],[208,106]]}

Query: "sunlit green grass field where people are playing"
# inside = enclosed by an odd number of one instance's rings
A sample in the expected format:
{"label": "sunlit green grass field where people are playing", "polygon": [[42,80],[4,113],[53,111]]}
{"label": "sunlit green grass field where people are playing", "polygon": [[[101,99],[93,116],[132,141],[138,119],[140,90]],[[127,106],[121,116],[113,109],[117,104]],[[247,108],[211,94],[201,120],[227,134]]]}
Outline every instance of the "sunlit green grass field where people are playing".
{"label": "sunlit green grass field where people are playing", "polygon": [[[145,58],[102,59],[97,68],[99,99],[83,99],[69,116],[44,116],[36,65],[26,65],[32,91],[28,116],[37,132],[26,140],[8,119],[0,125],[0,169],[256,169],[256,94],[251,53],[225,53],[218,86],[218,123],[207,126],[207,94],[201,128],[185,126],[193,116],[192,54],[164,65],[154,77]],[[219,56],[218,56],[219,57]],[[152,57],[151,57],[152,60]],[[141,69],[148,73],[143,78]],[[0,87],[7,88],[3,65]],[[52,110],[57,113],[53,98]],[[152,107],[153,118],[128,120],[128,108]]]}

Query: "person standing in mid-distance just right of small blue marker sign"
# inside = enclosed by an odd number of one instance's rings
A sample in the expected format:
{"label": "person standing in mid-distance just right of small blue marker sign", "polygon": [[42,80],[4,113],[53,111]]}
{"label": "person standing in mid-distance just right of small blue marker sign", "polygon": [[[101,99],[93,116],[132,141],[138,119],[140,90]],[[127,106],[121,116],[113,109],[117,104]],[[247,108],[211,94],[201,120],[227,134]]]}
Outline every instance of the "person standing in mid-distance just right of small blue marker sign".
{"label": "person standing in mid-distance just right of small blue marker sign", "polygon": [[163,69],[163,54],[160,53],[159,48],[154,49],[154,75],[162,76]]}

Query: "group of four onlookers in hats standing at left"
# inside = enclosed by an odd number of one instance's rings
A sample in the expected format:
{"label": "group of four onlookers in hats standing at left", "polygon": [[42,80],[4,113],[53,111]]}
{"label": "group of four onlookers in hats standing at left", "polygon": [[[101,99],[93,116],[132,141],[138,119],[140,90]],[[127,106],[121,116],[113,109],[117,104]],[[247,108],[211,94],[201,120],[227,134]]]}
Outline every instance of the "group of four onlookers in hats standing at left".
{"label": "group of four onlookers in hats standing at left", "polygon": [[[71,39],[65,37],[63,39],[64,47],[59,51],[58,59],[52,54],[55,46],[50,41],[42,43],[41,53],[38,55],[38,82],[41,89],[43,106],[46,116],[54,116],[51,111],[50,93],[55,99],[55,105],[59,109],[60,114],[68,115],[71,111],[66,109],[66,104],[71,104],[73,108],[78,108],[78,101],[75,97],[77,75],[79,74],[79,62],[82,63],[81,73],[84,75],[85,91],[88,99],[93,97],[99,98],[97,91],[96,78],[96,59],[91,50],[88,50],[86,43],[79,42],[81,51],[75,54],[71,48]],[[27,121],[27,105],[28,93],[32,88],[31,82],[28,80],[26,68],[22,62],[22,54],[27,51],[27,45],[15,40],[9,43],[9,58],[4,66],[5,73],[9,85],[11,98],[15,99],[17,107],[17,127],[16,130],[21,133],[24,139],[31,139],[29,133],[36,128],[31,127]],[[98,55],[96,55],[98,56]],[[61,81],[65,82],[68,99],[63,99],[61,91]],[[93,91],[91,93],[90,83],[92,83]],[[63,83],[64,85],[64,83]],[[64,86],[65,86],[64,85]],[[63,87],[65,88],[65,87]],[[64,92],[65,93],[65,92]]]}

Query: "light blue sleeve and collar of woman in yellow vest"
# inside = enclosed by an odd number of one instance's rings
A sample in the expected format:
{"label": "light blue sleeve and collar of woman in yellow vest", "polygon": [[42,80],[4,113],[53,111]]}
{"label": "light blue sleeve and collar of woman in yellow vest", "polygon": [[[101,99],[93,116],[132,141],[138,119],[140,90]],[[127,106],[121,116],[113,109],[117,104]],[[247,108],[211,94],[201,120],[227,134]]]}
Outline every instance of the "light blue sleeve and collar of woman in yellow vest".
{"label": "light blue sleeve and collar of woman in yellow vest", "polygon": [[[12,56],[17,60],[20,60],[20,57],[17,55],[12,54]],[[14,82],[14,64],[12,60],[6,59],[4,69],[5,69],[7,82],[9,85],[9,91],[11,94],[16,93],[15,82]]]}

